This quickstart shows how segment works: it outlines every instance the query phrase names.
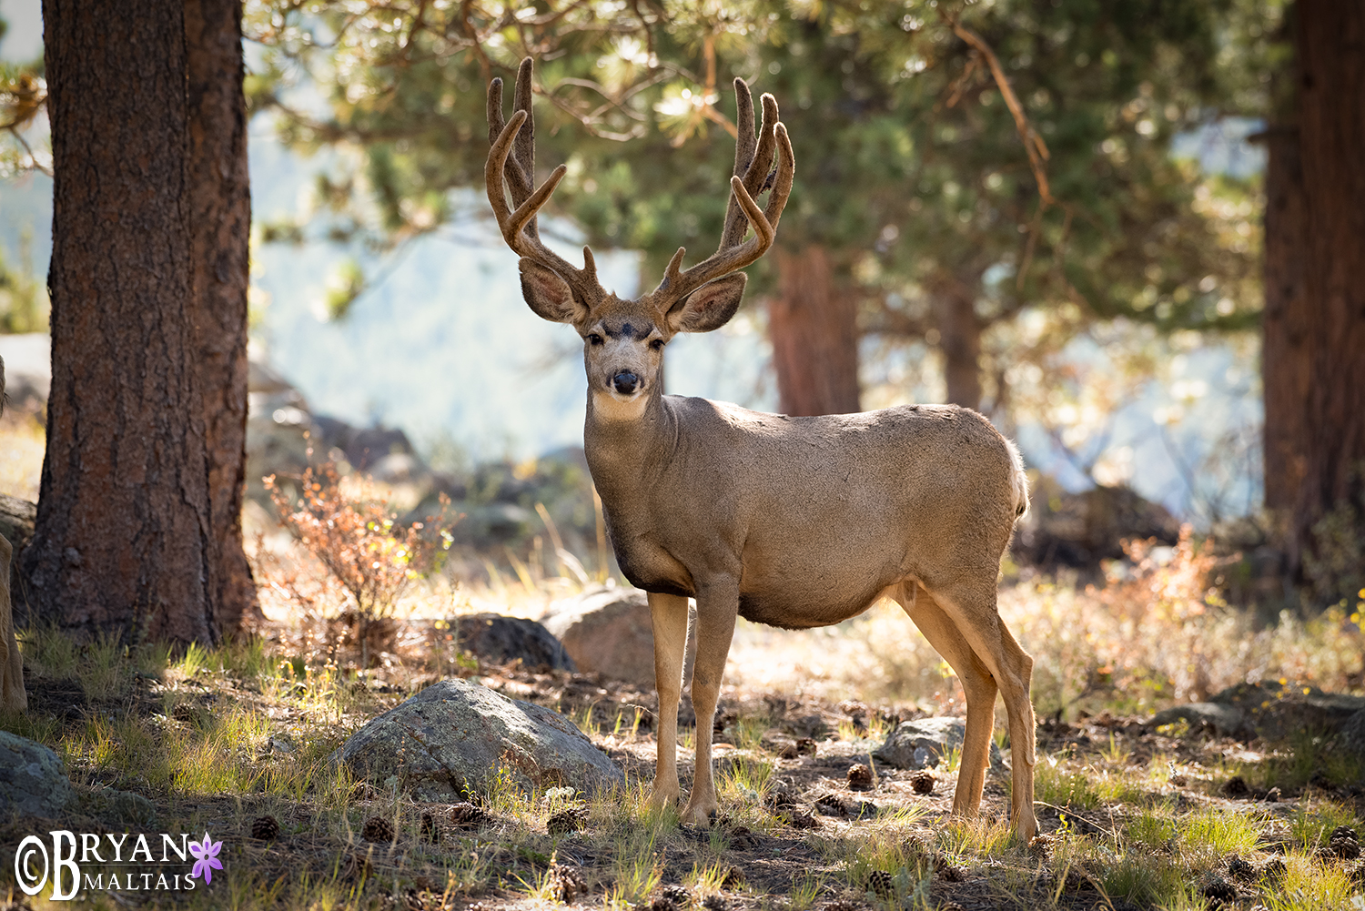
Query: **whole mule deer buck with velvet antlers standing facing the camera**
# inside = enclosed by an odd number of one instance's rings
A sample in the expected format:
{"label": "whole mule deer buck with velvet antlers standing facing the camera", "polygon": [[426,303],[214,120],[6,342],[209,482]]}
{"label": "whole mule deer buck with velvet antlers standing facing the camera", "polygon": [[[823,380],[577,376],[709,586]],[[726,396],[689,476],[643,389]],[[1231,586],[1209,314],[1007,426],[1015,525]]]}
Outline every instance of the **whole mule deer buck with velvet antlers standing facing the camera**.
{"label": "whole mule deer buck with velvet antlers standing facing the camera", "polygon": [[[659,694],[652,803],[680,796],[688,597],[696,598],[696,773],[681,818],[702,825],[719,809],[711,724],[736,616],[804,630],[890,597],[966,694],[953,810],[972,815],[980,807],[999,691],[1009,713],[1013,819],[1032,839],[1033,661],[995,602],[1001,553],[1028,508],[1013,444],[956,406],[789,418],[659,388],[673,336],[710,332],[734,316],[747,280],[737,270],[773,246],[792,190],[796,163],[777,101],[763,96],[755,135],[749,89],[741,79],[734,89],[738,141],[719,247],[688,269],[678,250],[654,291],[624,300],[599,284],[588,247],[577,269],[541,242],[536,213],[565,167],[535,187],[531,60],[521,61],[511,120],[502,116],[502,81],[489,86],[489,202],[521,257],[527,305],[583,337],[588,467],[621,572],[648,593]],[[768,186],[760,210],[753,197]],[[753,236],[744,240],[748,228]]]}

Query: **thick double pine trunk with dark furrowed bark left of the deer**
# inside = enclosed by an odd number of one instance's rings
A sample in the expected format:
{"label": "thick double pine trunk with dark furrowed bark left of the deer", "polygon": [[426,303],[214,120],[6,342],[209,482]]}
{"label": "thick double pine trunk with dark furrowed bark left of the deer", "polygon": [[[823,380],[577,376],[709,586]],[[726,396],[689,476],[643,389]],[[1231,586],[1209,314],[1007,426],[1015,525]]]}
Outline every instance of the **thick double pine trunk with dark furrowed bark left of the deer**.
{"label": "thick double pine trunk with dark furrowed bark left of the deer", "polygon": [[[216,642],[254,604],[224,572],[247,243],[224,11],[236,41],[235,3],[44,1],[52,392],[25,568],[37,616],[75,634]],[[236,190],[214,202],[214,184]]]}

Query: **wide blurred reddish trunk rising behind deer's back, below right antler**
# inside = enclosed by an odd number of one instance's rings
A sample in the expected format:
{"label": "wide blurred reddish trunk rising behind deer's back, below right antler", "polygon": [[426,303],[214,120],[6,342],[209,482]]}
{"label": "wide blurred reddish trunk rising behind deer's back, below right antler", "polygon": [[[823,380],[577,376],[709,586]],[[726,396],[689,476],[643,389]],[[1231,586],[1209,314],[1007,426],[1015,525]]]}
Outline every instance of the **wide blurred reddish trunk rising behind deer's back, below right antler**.
{"label": "wide blurred reddish trunk rising behind deer's back, below right antler", "polygon": [[781,410],[790,415],[859,410],[857,305],[834,283],[824,247],[773,250],[778,294],[768,300],[768,339]]}

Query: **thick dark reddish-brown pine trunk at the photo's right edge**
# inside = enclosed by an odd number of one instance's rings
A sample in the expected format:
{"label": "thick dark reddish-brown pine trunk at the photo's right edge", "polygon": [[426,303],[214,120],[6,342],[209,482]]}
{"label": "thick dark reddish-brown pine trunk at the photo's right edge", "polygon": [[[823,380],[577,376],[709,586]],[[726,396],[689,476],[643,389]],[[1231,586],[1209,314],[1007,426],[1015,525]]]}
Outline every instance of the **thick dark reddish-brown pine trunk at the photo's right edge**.
{"label": "thick dark reddish-brown pine trunk at the photo's right edge", "polygon": [[1299,552],[1324,512],[1365,508],[1365,4],[1297,4],[1298,135],[1308,213],[1312,432],[1298,497]]}

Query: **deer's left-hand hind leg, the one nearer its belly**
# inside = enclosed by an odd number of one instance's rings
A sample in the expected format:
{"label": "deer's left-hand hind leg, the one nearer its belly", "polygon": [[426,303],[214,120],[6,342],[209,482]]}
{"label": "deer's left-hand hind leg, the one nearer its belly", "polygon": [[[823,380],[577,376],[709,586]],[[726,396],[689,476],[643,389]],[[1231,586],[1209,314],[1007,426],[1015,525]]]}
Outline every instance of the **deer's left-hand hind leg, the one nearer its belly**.
{"label": "deer's left-hand hind leg, the one nearer its belly", "polygon": [[966,735],[962,740],[957,791],[953,794],[953,813],[976,815],[981,806],[986,766],[991,755],[991,731],[995,727],[995,679],[943,608],[923,589],[916,593],[917,585],[905,583],[895,600],[962,683],[966,695]]}

